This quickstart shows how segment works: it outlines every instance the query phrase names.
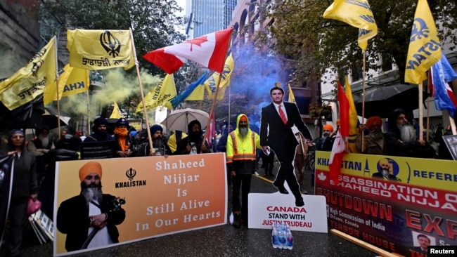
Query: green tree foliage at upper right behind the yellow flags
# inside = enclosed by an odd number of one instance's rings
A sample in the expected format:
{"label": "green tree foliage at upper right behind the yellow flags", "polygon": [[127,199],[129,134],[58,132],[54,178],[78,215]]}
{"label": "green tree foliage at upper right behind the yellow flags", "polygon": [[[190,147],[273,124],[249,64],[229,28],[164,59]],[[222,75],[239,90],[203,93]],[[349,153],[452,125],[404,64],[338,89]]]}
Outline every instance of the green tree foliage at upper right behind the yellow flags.
{"label": "green tree foliage at upper right behind the yellow flags", "polygon": [[[288,0],[269,1],[273,25],[269,33],[276,39],[274,49],[296,67],[296,76],[310,81],[312,74],[325,74],[326,69],[344,66],[362,67],[363,57],[357,44],[358,29],[345,22],[324,19],[323,13],[333,1]],[[368,41],[366,70],[378,70],[378,60],[394,62],[399,67],[399,79],[404,80],[404,67],[417,0],[370,1],[378,25],[378,35]],[[278,3],[278,4],[276,4]],[[456,1],[429,0],[428,4],[439,30],[447,43],[457,43],[452,29],[457,29]],[[267,37],[260,37],[257,44]],[[266,43],[266,42],[264,42]],[[452,49],[451,49],[452,50]],[[368,61],[369,60],[369,61]]]}

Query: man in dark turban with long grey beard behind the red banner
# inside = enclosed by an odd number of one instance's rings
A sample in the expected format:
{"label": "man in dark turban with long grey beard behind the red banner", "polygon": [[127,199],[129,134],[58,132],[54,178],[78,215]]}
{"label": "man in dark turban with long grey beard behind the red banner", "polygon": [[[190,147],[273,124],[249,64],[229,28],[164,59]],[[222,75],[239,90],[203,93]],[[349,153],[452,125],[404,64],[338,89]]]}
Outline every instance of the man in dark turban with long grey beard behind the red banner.
{"label": "man in dark turban with long grey beard behind the red banner", "polygon": [[434,158],[435,149],[425,140],[417,140],[416,131],[408,122],[407,112],[395,109],[389,114],[389,131],[385,133],[389,155]]}

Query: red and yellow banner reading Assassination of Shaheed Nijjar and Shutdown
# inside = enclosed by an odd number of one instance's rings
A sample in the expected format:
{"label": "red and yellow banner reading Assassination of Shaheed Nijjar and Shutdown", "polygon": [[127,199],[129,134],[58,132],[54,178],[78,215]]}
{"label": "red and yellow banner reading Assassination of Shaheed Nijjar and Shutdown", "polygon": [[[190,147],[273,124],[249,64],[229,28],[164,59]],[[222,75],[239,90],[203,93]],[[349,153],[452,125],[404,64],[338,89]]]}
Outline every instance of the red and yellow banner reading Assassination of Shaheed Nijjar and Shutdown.
{"label": "red and yellow banner reading Assassination of Shaheed Nijjar and Shutdown", "polygon": [[328,225],[403,256],[431,246],[457,245],[456,162],[345,154],[330,185],[330,152],[316,153],[316,195],[326,197]]}

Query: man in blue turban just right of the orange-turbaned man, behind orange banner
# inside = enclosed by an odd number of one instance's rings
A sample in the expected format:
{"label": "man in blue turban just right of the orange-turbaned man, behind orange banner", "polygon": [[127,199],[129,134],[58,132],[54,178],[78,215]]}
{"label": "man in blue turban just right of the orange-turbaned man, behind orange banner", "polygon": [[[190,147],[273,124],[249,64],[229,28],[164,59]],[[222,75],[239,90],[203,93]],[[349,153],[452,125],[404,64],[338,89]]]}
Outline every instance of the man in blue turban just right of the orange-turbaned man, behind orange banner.
{"label": "man in blue turban just right of the orange-turbaned man, behind orange banner", "polygon": [[165,138],[163,138],[163,128],[160,125],[153,125],[150,127],[150,136],[152,137],[153,142],[153,151],[150,151],[149,143],[141,145],[138,152],[136,153],[137,157],[144,156],[165,156],[167,157],[172,153],[172,150],[169,149],[168,145],[165,143]]}

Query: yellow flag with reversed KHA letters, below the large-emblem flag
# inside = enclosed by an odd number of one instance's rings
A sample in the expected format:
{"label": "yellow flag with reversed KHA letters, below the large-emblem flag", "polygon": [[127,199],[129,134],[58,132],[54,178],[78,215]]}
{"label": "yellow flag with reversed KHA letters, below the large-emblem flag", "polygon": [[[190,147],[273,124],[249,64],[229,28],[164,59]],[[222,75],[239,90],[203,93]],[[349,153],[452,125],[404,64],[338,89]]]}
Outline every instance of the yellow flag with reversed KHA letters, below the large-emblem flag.
{"label": "yellow flag with reversed KHA letters, below the large-emblem flag", "polygon": [[[71,67],[69,64],[63,67],[59,72],[59,100],[68,95],[82,93],[89,90],[89,70]],[[44,105],[57,100],[56,82],[49,84],[44,88],[43,102]]]}

